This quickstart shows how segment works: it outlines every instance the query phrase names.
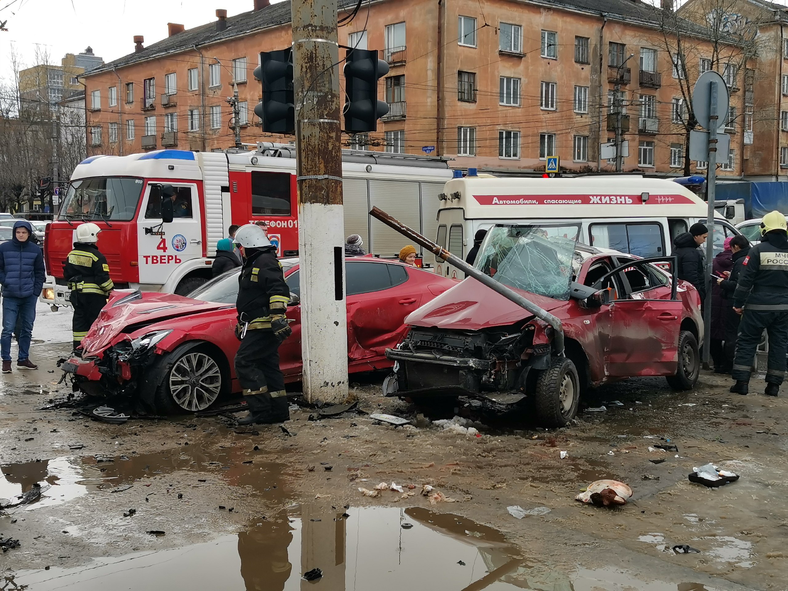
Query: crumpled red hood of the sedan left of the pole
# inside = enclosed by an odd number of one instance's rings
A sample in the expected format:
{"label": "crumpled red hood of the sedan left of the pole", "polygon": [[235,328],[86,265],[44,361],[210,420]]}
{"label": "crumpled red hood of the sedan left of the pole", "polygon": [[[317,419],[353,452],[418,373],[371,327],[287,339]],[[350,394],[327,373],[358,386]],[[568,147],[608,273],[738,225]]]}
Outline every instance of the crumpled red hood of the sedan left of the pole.
{"label": "crumpled red hood of the sedan left of the pole", "polygon": [[82,347],[86,353],[99,353],[112,344],[120,333],[133,333],[167,318],[181,318],[226,307],[233,306],[171,293],[146,292],[139,299],[121,303],[120,306],[113,306],[110,300],[82,341]]}

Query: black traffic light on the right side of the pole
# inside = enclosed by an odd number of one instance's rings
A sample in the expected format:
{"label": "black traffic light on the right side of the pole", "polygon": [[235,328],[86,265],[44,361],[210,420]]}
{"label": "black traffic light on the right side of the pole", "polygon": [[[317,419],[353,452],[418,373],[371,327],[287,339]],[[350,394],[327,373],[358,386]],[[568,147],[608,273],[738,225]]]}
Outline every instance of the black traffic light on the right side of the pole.
{"label": "black traffic light on the right side of the pole", "polygon": [[377,50],[348,50],[345,57],[345,102],[342,112],[345,131],[377,131],[377,120],[388,113],[388,105],[377,100],[377,80],[388,73],[388,64],[377,59]]}

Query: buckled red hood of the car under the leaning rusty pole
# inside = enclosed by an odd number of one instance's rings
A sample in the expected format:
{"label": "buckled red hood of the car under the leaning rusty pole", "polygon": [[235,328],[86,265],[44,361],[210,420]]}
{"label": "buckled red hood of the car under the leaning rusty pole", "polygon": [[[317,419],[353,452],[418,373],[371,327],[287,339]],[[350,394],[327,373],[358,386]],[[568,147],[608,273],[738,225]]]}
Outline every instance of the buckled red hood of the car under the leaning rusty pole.
{"label": "buckled red hood of the car under the leaning rusty pole", "polygon": [[[537,296],[515,289],[515,292],[535,303],[543,310],[555,310],[566,304],[559,299]],[[414,310],[405,324],[425,328],[479,330],[492,326],[506,326],[525,318],[531,318],[528,310],[498,292],[468,277],[453,288],[442,293],[431,302]]]}

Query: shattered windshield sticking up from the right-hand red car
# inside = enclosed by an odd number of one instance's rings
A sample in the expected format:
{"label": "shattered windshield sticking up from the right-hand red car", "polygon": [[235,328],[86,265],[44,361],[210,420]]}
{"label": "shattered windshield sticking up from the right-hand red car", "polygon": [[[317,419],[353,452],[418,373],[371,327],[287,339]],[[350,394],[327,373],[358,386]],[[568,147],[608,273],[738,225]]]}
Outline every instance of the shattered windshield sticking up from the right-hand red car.
{"label": "shattered windshield sticking up from the right-hand red car", "polygon": [[569,299],[580,223],[496,225],[487,232],[476,268],[512,288]]}

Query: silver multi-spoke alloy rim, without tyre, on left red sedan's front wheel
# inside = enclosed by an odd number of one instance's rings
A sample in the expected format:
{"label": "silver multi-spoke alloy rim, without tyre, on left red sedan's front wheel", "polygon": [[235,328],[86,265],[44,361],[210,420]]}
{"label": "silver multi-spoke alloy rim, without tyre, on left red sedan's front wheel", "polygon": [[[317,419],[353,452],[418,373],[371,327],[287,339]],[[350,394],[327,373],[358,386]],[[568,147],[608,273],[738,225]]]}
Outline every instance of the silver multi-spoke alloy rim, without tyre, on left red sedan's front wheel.
{"label": "silver multi-spoke alloy rim, without tyre, on left red sedan's front wheel", "polygon": [[188,353],[169,372],[169,392],[184,411],[204,411],[221,392],[221,370],[210,355]]}

